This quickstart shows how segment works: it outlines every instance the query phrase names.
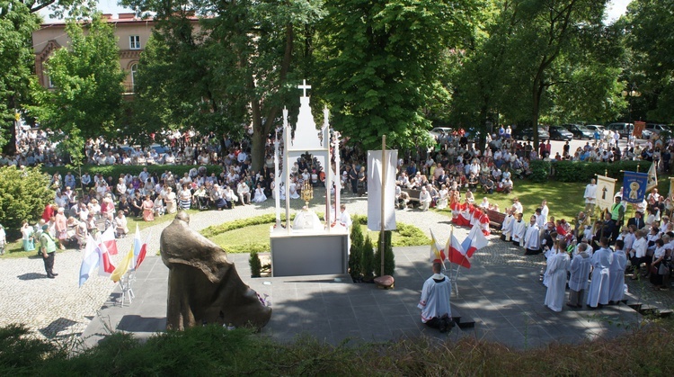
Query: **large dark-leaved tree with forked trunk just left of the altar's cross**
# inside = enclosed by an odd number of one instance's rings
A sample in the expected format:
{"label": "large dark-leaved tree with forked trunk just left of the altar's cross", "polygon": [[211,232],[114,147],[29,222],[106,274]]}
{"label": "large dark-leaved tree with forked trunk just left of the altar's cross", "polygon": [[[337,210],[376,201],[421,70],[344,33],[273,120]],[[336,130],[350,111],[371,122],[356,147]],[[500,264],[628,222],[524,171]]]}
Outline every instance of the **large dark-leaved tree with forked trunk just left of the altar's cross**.
{"label": "large dark-leaved tree with forked trunk just left of the altar's cross", "polygon": [[[137,119],[153,127],[239,133],[252,125],[252,166],[264,162],[267,136],[281,109],[297,103],[294,86],[312,51],[319,0],[200,1],[126,4],[155,12],[154,40],[139,65],[138,99],[166,98],[163,116],[149,110]],[[191,17],[200,16],[199,23]],[[197,27],[198,25],[198,27]],[[167,75],[167,73],[169,75]],[[308,78],[308,77],[307,77]],[[294,97],[294,98],[293,98]]]}

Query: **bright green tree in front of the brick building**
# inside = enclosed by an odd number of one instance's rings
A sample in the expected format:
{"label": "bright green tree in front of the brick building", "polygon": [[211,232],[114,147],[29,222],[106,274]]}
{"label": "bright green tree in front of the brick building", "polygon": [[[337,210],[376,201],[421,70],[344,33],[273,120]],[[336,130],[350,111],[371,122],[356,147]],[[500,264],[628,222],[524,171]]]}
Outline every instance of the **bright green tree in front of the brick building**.
{"label": "bright green tree in front of the brick building", "polygon": [[89,23],[67,22],[66,31],[70,45],[55,51],[47,63],[55,87],[37,89],[39,106],[33,110],[79,160],[85,139],[117,133],[125,73],[114,30],[100,14]]}

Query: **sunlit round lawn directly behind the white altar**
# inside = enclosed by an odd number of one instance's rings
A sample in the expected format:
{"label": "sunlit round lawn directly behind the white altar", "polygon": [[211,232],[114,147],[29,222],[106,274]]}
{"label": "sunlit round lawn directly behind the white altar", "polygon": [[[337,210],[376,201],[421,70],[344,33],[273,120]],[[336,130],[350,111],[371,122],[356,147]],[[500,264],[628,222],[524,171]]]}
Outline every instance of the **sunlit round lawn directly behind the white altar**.
{"label": "sunlit round lawn directly behind the white altar", "polygon": [[[319,217],[322,217],[321,214]],[[379,237],[379,232],[368,230],[366,217],[359,216],[358,221],[363,235],[369,235],[375,240]],[[201,234],[225,249],[227,253],[250,253],[251,251],[266,253],[270,251],[270,226],[274,222],[274,215],[267,214],[208,227],[202,230]],[[394,247],[430,244],[430,238],[413,225],[397,223],[397,228],[392,237]]]}

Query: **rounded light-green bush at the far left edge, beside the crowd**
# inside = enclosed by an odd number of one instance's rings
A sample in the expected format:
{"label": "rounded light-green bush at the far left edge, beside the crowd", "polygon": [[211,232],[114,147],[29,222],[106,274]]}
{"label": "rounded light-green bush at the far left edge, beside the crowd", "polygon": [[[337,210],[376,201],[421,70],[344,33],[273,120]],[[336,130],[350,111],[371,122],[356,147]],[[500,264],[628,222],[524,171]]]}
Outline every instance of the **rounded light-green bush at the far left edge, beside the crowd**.
{"label": "rounded light-green bush at the far left edge, beside the crowd", "polygon": [[49,190],[49,177],[40,167],[0,167],[0,224],[11,237],[19,237],[22,220],[33,223],[40,219],[54,191]]}

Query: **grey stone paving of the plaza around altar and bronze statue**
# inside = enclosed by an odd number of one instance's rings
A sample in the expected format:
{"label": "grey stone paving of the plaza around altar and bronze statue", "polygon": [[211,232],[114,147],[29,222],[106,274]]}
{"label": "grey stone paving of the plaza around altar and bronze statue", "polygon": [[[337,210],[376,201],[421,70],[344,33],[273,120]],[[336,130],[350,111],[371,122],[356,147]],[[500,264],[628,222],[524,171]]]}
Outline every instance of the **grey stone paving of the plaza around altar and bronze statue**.
{"label": "grey stone paving of the plaza around altar and bronze statue", "polygon": [[[367,199],[342,198],[351,215],[367,215]],[[191,216],[192,229],[272,213],[271,201],[238,206],[230,211],[203,211]],[[315,211],[322,211],[316,207]],[[398,222],[409,223],[440,243],[449,237],[450,217],[435,211],[400,210]],[[136,298],[120,306],[120,286],[109,278],[95,276],[78,288],[82,255],[74,250],[58,253],[56,279],[47,279],[38,256],[1,259],[0,326],[24,323],[38,337],[93,345],[111,330],[149,337],[163,331],[166,312],[168,269],[159,256],[159,237],[169,222],[143,230],[149,234],[146,262],[136,274]],[[469,229],[455,228],[458,238]],[[120,254],[132,247],[132,238],[118,240]],[[471,269],[461,269],[458,295],[452,295],[453,315],[474,321],[474,327],[454,328],[448,334],[425,328],[416,308],[421,285],[430,276],[430,247],[395,247],[395,289],[378,290],[374,284],[350,283],[348,276],[302,276],[250,278],[248,255],[230,254],[245,283],[271,300],[273,314],[263,336],[279,341],[300,334],[338,344],[353,341],[386,341],[399,337],[430,336],[456,340],[478,337],[508,346],[526,348],[554,341],[580,342],[596,337],[613,337],[639,326],[644,318],[625,304],[601,310],[567,310],[555,313],[543,305],[545,287],[539,274],[544,256],[524,256],[523,250],[495,236],[490,245],[475,253]],[[672,293],[652,292],[650,284],[629,281],[632,302],[643,302],[661,310],[672,306]],[[628,301],[628,302],[629,302]],[[82,343],[76,342],[76,343]]]}

